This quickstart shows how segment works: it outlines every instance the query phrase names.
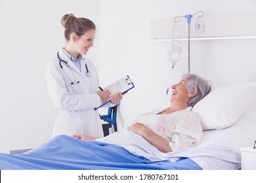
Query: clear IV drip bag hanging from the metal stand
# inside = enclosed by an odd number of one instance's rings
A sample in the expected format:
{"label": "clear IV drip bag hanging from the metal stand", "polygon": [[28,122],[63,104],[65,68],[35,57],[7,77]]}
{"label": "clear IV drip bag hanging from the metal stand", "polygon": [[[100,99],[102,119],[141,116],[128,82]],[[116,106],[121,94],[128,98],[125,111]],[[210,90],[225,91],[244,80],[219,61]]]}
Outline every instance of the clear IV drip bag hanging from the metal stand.
{"label": "clear IV drip bag hanging from the metal stand", "polygon": [[181,60],[181,41],[172,41],[171,43],[171,50],[168,50],[168,60],[171,63],[176,63]]}

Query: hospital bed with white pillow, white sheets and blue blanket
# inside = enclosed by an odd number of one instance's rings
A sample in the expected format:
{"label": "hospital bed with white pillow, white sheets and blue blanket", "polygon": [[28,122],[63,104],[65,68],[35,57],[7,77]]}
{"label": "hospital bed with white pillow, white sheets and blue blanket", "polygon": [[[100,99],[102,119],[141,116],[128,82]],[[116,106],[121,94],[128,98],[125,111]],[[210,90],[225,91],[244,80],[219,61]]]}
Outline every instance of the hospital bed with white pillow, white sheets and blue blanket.
{"label": "hospital bed with white pillow, white sheets and blue blanket", "polygon": [[241,168],[243,146],[256,140],[256,82],[215,88],[193,111],[202,142],[162,153],[136,133],[119,130],[97,141],[66,135],[23,154],[0,154],[0,169],[229,169]]}

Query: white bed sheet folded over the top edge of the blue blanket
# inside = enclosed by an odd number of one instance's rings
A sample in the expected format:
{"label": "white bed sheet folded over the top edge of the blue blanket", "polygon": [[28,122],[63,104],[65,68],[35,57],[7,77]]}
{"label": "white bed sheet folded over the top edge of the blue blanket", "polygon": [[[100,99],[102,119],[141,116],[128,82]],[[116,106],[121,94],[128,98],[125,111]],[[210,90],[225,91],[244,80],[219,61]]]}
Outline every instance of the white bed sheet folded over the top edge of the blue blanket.
{"label": "white bed sheet folded over the top edge of the blue blanket", "polygon": [[151,161],[168,159],[174,162],[181,157],[186,157],[191,158],[200,165],[202,169],[239,169],[241,167],[240,154],[231,146],[221,142],[208,142],[207,144],[195,148],[163,153],[140,135],[127,130],[117,131],[117,133],[97,139],[96,141],[122,146],[129,150],[129,152],[137,156],[143,156]]}

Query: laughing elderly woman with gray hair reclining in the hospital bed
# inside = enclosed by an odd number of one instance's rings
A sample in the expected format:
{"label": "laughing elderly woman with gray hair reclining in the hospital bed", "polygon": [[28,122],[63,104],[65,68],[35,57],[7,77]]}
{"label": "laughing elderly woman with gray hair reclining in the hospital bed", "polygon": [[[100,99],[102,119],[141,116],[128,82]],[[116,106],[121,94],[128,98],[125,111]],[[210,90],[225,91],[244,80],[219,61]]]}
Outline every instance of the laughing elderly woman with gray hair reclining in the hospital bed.
{"label": "laughing elderly woman with gray hair reclining in the hospital bed", "polygon": [[[211,91],[211,84],[198,75],[186,74],[178,84],[172,86],[172,90],[170,107],[141,114],[126,129],[100,139],[83,134],[76,134],[73,137],[84,141],[103,141],[123,147],[137,144],[136,146],[142,146],[146,152],[148,146],[145,146],[145,143],[149,143],[163,153],[194,147],[200,142],[203,132],[200,118],[191,110]],[[148,153],[155,154],[155,152]]]}

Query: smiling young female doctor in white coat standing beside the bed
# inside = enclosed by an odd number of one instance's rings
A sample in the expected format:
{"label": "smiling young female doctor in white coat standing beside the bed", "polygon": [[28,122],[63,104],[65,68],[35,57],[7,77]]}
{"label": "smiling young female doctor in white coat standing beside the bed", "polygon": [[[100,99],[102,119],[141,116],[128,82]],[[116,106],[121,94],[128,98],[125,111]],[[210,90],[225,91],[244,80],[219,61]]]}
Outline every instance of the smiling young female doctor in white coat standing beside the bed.
{"label": "smiling young female doctor in white coat standing beside the bed", "polygon": [[[103,137],[95,107],[108,101],[111,93],[98,90],[95,65],[85,58],[93,46],[96,26],[91,20],[76,18],[74,14],[65,14],[61,23],[65,28],[66,46],[58,50],[45,71],[49,93],[59,110],[53,137],[77,133]],[[113,107],[121,99],[121,93],[114,93],[106,107]]]}

